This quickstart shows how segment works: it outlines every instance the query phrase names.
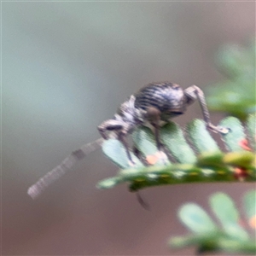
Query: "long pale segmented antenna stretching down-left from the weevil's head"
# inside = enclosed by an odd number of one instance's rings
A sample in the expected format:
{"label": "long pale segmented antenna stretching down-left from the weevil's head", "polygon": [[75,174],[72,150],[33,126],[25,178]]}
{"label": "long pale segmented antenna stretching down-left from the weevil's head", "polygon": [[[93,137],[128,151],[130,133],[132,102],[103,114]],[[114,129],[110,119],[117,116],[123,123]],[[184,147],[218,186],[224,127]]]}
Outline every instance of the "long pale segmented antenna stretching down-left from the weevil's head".
{"label": "long pale segmented antenna stretching down-left from the weevil's head", "polygon": [[104,139],[99,138],[96,141],[84,144],[81,148],[73,151],[73,153],[69,154],[59,166],[56,166],[50,172],[46,173],[44,177],[41,177],[37,183],[34,183],[27,190],[27,194],[30,195],[32,199],[36,199],[38,195],[41,195],[44,192],[44,189],[69,171],[79,160],[83,160],[87,154],[101,148],[103,142]]}

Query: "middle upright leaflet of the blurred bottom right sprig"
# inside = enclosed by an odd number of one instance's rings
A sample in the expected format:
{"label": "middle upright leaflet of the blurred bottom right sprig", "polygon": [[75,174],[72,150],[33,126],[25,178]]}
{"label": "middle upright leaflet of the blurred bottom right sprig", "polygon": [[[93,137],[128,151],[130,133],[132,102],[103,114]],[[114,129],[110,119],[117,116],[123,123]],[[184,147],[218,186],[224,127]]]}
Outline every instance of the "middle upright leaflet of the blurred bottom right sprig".
{"label": "middle upright leaflet of the blurred bottom right sprig", "polygon": [[210,197],[212,211],[215,213],[224,231],[231,237],[247,240],[247,232],[238,224],[239,213],[234,202],[224,193],[216,193]]}

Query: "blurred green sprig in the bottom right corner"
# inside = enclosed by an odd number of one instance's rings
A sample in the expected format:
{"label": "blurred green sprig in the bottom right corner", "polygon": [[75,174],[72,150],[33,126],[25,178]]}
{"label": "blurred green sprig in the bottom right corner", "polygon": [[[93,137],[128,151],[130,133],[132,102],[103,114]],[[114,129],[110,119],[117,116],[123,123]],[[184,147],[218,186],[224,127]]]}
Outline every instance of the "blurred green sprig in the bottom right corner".
{"label": "blurred green sprig in the bottom right corner", "polygon": [[[175,236],[169,241],[172,248],[195,246],[198,253],[246,253],[256,254],[256,190],[243,197],[242,212],[228,195],[216,193],[209,199],[210,207],[218,223],[194,203],[183,205],[178,212],[182,223],[192,232],[189,236]],[[249,236],[251,235],[251,237]]]}

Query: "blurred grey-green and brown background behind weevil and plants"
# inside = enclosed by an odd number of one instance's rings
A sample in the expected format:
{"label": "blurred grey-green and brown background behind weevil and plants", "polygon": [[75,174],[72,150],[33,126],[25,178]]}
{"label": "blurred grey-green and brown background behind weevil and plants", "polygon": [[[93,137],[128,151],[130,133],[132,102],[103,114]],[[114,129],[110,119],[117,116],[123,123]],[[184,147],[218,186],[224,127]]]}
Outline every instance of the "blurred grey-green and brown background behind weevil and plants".
{"label": "blurred grey-green and brown background behind weevil and plants", "polygon": [[[239,201],[253,184],[146,189],[147,212],[124,185],[96,189],[118,170],[98,151],[37,201],[26,189],[96,139],[96,125],[142,85],[203,87],[222,79],[214,53],[253,38],[255,3],[4,2],[2,15],[2,254],[192,255],[166,247],[186,232],[177,208],[195,201],[208,209],[217,190]],[[195,103],[176,121],[196,117]]]}

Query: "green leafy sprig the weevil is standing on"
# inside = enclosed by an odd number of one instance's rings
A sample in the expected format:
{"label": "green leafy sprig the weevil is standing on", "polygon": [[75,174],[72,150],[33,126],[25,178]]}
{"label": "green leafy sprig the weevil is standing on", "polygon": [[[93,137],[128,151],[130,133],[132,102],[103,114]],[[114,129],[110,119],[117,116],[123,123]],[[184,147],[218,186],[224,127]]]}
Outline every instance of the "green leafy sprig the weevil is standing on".
{"label": "green leafy sprig the weevil is standing on", "polygon": [[[131,168],[125,148],[118,140],[110,139],[103,144],[103,152],[121,169],[117,176],[107,178],[97,186],[110,189],[119,183],[128,183],[131,191],[137,191],[177,183],[255,182],[255,123],[256,114],[252,114],[247,119],[246,135],[239,119],[228,117],[220,122],[230,128],[230,132],[222,136],[227,153],[218,148],[202,120],[193,120],[184,132],[177,124],[169,123],[160,131],[161,140],[173,158],[166,165],[158,157],[154,134],[147,127],[134,131],[132,139],[146,160],[156,158],[153,166],[144,166],[143,161],[131,152],[135,162]],[[245,142],[248,146],[243,146]]]}

